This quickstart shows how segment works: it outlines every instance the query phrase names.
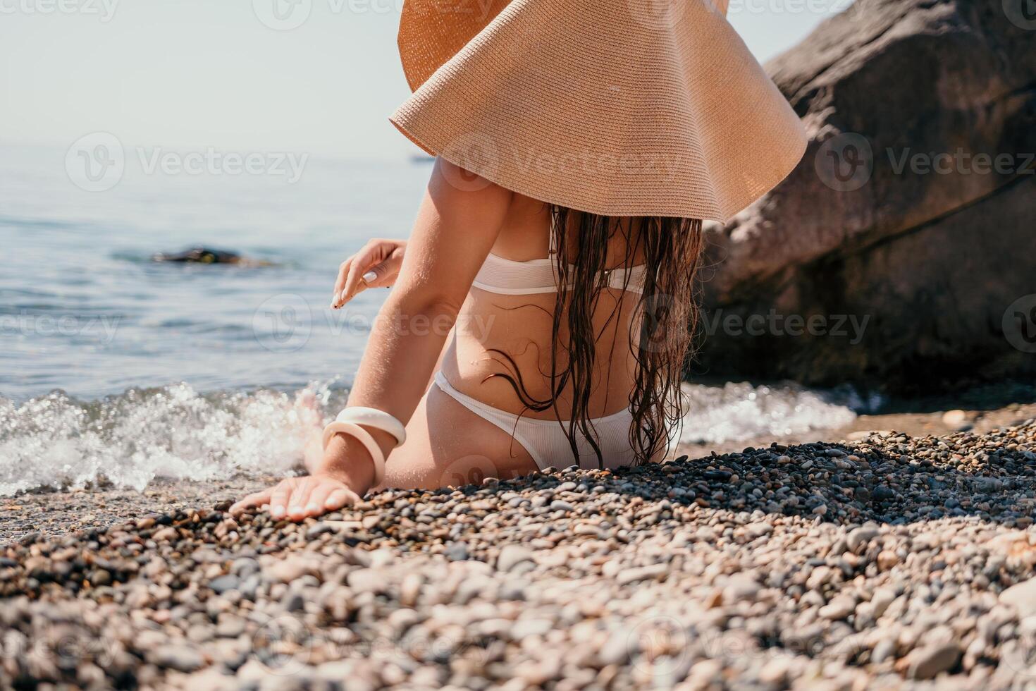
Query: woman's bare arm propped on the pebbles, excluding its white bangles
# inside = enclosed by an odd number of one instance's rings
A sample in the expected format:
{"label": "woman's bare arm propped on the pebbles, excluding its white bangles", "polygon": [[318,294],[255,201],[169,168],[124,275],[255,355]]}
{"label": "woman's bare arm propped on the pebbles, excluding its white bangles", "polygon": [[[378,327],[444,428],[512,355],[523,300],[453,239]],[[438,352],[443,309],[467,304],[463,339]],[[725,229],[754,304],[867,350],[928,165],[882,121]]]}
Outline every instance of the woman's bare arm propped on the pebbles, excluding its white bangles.
{"label": "woman's bare arm propped on the pebbles, excluding its white bangles", "polygon": [[[463,181],[463,184],[455,184]],[[512,193],[441,159],[432,170],[399,279],[378,313],[349,394],[350,406],[383,410],[405,425],[428,387],[450,329],[496,241]],[[385,456],[395,438],[365,428]],[[374,462],[354,437],[337,434],[323,460],[231,508],[269,505],[275,518],[335,511],[374,482]]]}

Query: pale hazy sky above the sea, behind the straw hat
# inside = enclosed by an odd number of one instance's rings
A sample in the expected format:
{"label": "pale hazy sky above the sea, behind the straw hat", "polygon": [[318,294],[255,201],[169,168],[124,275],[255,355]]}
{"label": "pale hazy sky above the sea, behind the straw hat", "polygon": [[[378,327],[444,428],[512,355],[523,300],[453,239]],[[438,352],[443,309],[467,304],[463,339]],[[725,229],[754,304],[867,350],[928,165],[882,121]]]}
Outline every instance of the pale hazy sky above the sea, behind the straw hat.
{"label": "pale hazy sky above the sea, behind the straw hat", "polygon": [[[0,143],[414,153],[387,121],[401,3],[0,0]],[[729,20],[766,61],[846,3],[731,0]]]}

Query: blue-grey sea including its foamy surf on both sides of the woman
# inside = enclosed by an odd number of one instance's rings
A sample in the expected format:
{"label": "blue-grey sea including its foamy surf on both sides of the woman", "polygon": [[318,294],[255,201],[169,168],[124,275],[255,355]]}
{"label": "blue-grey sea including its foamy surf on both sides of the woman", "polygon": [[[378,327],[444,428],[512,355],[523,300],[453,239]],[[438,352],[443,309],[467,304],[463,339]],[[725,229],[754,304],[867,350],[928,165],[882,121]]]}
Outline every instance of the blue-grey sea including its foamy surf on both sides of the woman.
{"label": "blue-grey sea including its foamy surf on both sides of the woman", "polygon": [[[291,179],[127,161],[98,191],[66,153],[0,147],[0,495],[289,471],[386,294],[329,310],[338,265],[409,234],[430,167],[311,157]],[[192,246],[265,265],[150,260]],[[685,391],[688,442],[837,427],[858,407],[795,385]]]}

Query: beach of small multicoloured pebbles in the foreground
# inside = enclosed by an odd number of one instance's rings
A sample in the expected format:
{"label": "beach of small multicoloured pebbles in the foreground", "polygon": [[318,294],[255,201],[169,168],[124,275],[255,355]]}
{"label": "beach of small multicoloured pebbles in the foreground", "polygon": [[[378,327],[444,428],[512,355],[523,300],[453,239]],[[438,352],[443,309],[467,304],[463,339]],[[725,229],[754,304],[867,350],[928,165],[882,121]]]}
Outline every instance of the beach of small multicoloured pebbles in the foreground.
{"label": "beach of small multicoloured pebbles in the foreground", "polygon": [[0,548],[0,687],[1036,686],[1036,422]]}

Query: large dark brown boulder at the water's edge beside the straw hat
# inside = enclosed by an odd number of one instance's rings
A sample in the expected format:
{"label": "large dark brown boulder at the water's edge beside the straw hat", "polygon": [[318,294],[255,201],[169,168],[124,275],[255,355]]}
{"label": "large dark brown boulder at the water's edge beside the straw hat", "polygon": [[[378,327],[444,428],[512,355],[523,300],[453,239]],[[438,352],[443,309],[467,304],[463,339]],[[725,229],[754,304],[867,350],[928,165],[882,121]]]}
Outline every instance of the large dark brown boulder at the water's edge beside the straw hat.
{"label": "large dark brown boulder at the water's edge beside the straw hat", "polygon": [[858,0],[768,65],[811,142],[710,233],[696,369],[900,391],[1036,372],[1025,7]]}

